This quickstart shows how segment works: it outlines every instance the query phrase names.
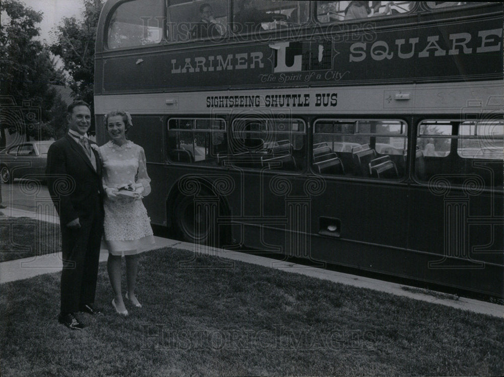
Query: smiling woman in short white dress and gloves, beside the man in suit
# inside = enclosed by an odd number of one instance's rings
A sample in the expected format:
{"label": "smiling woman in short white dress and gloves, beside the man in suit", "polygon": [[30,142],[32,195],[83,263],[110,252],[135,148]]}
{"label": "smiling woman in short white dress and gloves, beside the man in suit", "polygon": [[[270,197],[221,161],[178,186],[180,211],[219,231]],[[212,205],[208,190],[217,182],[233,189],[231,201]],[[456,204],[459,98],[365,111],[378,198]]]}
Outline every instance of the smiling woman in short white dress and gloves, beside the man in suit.
{"label": "smiling woman in short white dress and gloves, beside the man in suit", "polygon": [[99,148],[103,161],[104,235],[108,248],[107,270],[114,291],[112,306],[128,316],[121,292],[121,259],[126,260],[126,298],[136,307],[142,305],[135,296],[138,254],[154,243],[154,236],[142,203],[151,191],[144,149],[126,139],[132,127],[128,112],[117,110],[105,115],[110,141]]}

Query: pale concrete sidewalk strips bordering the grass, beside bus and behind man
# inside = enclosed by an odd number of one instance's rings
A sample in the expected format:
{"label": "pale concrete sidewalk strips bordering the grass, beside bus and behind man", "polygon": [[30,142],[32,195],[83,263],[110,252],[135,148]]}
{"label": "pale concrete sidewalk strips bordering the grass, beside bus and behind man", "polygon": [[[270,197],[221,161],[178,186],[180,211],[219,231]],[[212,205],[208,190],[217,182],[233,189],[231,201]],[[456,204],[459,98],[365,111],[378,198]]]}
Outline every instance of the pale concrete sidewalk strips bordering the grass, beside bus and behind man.
{"label": "pale concrete sidewalk strips bordering the grass, beside bus and behind man", "polygon": [[[30,217],[37,220],[59,223],[59,219],[57,217],[43,216],[43,219],[41,219],[37,217],[36,213],[24,210],[8,208],[1,210],[0,212],[3,212],[4,215],[6,216]],[[156,244],[152,249],[174,247],[177,249],[189,250],[195,253],[206,254],[227,259],[228,261],[223,260],[223,264],[229,263],[229,260],[251,263],[268,268],[276,268],[286,272],[299,273],[306,276],[325,279],[335,283],[348,284],[359,288],[369,288],[381,292],[392,293],[398,296],[427,301],[430,303],[452,306],[462,310],[469,310],[476,313],[482,313],[504,319],[503,305],[492,304],[489,302],[478,301],[464,297],[455,298],[451,297],[451,295],[444,295],[443,293],[440,293],[438,296],[447,296],[447,298],[438,298],[427,293],[416,293],[405,290],[405,288],[406,289],[411,288],[412,290],[418,291],[418,288],[407,287],[401,284],[386,282],[382,280],[370,279],[366,277],[350,275],[336,271],[328,271],[320,268],[306,267],[303,265],[272,260],[265,257],[233,252],[226,249],[220,249],[187,242],[180,242],[168,238],[155,237],[155,239]],[[107,257],[108,257],[107,250],[106,249],[101,250],[100,261],[101,262],[105,261]],[[62,267],[61,253],[3,262],[0,263],[0,283],[7,283],[15,280],[28,279],[37,275],[57,272],[61,270],[61,267]]]}

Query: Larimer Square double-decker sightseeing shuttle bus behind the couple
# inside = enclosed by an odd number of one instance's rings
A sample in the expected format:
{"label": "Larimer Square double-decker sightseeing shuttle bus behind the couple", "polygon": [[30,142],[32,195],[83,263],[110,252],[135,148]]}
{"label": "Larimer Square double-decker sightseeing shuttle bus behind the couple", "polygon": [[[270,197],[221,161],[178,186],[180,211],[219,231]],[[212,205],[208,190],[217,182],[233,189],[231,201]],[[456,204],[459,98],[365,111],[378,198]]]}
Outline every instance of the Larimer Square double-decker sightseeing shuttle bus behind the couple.
{"label": "Larimer Square double-decker sightseeing shuttle bus behind the couple", "polygon": [[109,0],[97,140],[106,112],[131,112],[151,221],[188,241],[503,298],[502,16],[488,2]]}

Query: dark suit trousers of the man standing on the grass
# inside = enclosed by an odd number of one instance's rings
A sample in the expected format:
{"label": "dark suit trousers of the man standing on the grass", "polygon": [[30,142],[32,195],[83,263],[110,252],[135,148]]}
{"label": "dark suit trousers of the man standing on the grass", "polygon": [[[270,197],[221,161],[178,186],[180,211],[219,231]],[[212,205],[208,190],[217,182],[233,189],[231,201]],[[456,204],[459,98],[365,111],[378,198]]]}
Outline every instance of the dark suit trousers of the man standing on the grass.
{"label": "dark suit trousers of the man standing on the grass", "polygon": [[61,224],[62,313],[79,311],[81,305],[94,303],[103,233],[103,209],[99,201],[95,207],[93,213],[79,217],[79,229]]}

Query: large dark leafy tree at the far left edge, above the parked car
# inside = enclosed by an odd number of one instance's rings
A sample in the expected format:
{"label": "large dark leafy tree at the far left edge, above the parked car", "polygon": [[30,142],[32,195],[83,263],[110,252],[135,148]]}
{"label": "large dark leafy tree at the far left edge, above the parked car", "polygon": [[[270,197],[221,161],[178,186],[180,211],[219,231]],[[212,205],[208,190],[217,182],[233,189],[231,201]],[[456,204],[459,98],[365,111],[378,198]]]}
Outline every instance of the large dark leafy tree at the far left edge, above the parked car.
{"label": "large dark leafy tree at the far left edge, above the parked car", "polygon": [[[5,146],[5,130],[34,138],[49,137],[55,90],[51,83],[64,80],[54,68],[48,49],[34,37],[42,13],[25,7],[18,0],[0,2],[0,147]],[[14,121],[13,121],[14,120]]]}

